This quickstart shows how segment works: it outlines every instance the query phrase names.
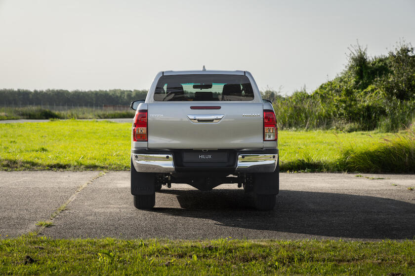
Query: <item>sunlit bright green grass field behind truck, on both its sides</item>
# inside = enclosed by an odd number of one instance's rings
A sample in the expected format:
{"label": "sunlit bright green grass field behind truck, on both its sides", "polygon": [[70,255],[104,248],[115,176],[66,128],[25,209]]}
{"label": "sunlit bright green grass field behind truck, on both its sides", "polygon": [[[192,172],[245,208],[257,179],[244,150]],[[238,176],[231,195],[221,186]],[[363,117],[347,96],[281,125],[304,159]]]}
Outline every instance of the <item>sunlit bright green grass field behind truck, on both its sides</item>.
{"label": "sunlit bright green grass field behind truck, on both its sides", "polygon": [[[130,131],[131,124],[108,121],[0,124],[0,169],[128,170]],[[355,167],[349,168],[345,163],[345,158],[349,159],[345,152],[350,155],[370,150],[384,145],[385,138],[394,140],[400,135],[403,134],[280,131],[281,171],[350,171]],[[411,140],[409,147],[413,150],[411,158],[415,158],[415,140]],[[399,162],[396,161],[398,165]],[[414,164],[405,172],[415,170]],[[371,170],[372,167],[353,171],[384,171]]]}

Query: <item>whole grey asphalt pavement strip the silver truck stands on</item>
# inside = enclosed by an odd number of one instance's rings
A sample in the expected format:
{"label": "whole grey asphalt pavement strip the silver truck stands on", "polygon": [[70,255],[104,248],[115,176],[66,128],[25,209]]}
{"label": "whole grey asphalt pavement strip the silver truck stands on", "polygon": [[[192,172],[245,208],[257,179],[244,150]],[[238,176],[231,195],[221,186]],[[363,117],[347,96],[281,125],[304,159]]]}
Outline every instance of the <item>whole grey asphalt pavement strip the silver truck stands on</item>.
{"label": "whole grey asphalt pavement strip the silver truck stands on", "polygon": [[[39,231],[53,238],[415,238],[415,175],[281,173],[271,211],[223,184],[202,192],[163,187],[153,210],[133,206],[129,172],[0,172],[0,238]],[[371,179],[372,178],[372,179]],[[382,179],[376,179],[382,178]],[[66,209],[59,211],[66,204]],[[53,219],[51,215],[58,213]]]}

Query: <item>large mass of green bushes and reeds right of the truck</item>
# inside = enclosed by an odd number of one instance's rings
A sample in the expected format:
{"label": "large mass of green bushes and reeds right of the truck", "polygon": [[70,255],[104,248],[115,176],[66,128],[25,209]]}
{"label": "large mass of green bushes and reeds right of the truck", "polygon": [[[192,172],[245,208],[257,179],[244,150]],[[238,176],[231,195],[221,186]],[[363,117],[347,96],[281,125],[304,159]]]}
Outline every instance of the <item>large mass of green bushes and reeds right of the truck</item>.
{"label": "large mass of green bushes and reeds right of the truck", "polygon": [[390,132],[415,119],[414,47],[401,42],[387,56],[373,58],[359,44],[349,50],[345,70],[312,94],[303,89],[275,97],[280,129]]}

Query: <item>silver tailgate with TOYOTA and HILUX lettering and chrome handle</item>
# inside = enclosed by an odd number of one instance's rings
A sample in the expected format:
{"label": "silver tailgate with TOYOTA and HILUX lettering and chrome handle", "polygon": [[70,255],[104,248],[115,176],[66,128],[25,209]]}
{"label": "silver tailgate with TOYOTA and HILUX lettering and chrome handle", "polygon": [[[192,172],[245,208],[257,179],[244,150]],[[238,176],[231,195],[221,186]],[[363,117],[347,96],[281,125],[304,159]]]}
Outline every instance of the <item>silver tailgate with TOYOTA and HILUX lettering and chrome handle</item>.
{"label": "silver tailgate with TOYOTA and HILUX lettering and chrome handle", "polygon": [[[201,106],[220,109],[191,108]],[[262,103],[151,103],[148,148],[261,149],[262,121]]]}

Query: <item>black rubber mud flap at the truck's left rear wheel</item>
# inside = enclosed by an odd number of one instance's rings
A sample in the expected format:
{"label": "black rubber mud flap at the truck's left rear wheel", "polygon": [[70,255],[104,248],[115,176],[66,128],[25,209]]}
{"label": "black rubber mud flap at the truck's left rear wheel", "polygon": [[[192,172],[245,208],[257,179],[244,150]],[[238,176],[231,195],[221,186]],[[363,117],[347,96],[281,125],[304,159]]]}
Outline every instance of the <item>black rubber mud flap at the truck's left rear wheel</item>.
{"label": "black rubber mud flap at the truck's left rear wheel", "polygon": [[131,160],[131,194],[152,195],[156,192],[156,174],[138,173],[135,171]]}

